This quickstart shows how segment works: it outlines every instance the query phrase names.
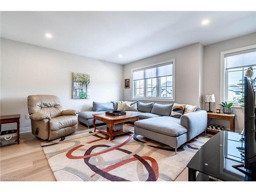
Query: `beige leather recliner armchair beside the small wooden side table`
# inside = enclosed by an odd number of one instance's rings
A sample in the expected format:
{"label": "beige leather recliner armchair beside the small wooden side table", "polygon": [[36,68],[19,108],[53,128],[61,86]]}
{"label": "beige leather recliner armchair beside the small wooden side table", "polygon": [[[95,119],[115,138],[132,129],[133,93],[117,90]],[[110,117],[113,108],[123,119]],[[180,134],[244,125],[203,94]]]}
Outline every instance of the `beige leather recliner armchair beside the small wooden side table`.
{"label": "beige leather recliner armchair beside the small wooden side table", "polygon": [[28,96],[28,110],[32,134],[41,139],[57,139],[77,129],[78,111],[63,110],[55,95]]}

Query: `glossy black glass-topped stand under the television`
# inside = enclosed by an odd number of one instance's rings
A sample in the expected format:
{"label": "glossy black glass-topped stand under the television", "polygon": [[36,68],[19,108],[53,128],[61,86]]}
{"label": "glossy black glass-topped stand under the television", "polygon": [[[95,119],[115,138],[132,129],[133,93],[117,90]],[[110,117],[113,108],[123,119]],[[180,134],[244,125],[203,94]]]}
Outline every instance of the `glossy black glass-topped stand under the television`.
{"label": "glossy black glass-topped stand under the television", "polygon": [[243,147],[243,135],[228,131],[216,134],[200,148],[187,164],[188,181],[251,180],[232,167],[244,163],[241,153]]}

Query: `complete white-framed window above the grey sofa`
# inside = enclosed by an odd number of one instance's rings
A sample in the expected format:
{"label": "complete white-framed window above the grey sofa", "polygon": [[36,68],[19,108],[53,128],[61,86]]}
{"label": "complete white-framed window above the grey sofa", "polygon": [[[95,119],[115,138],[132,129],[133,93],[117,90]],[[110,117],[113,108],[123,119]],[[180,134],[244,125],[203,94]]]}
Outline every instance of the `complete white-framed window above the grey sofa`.
{"label": "complete white-framed window above the grey sofa", "polygon": [[174,100],[173,61],[133,70],[134,99]]}

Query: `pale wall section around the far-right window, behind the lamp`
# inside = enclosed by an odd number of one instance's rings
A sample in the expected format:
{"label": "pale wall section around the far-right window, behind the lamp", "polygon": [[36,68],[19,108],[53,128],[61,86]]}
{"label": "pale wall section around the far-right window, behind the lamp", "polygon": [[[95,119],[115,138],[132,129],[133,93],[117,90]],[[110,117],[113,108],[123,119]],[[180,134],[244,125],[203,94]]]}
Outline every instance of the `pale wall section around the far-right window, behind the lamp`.
{"label": "pale wall section around the far-right window, behind the lamp", "polygon": [[[217,42],[216,44],[211,44],[204,47],[204,94],[215,94],[216,103],[212,106],[212,110],[215,111],[216,107],[220,108],[218,104],[222,102],[220,100],[220,54],[222,51],[227,51],[231,49],[246,47],[256,44],[256,33],[251,33],[237,38],[232,38],[229,40],[224,40]],[[205,109],[208,110],[208,105],[205,105]],[[233,108],[233,113],[237,115],[235,127],[237,131],[241,131],[244,128],[244,110]],[[218,122],[217,122],[218,121]],[[212,124],[222,124],[229,128],[228,121],[212,120]]]}

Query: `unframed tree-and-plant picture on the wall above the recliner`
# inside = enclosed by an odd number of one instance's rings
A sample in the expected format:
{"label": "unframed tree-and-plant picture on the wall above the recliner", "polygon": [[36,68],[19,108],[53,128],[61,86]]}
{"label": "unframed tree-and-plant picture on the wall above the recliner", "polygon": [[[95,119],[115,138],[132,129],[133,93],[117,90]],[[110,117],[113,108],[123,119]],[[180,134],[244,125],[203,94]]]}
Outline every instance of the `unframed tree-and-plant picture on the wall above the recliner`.
{"label": "unframed tree-and-plant picture on the wall above the recliner", "polygon": [[72,77],[72,98],[89,99],[90,74],[73,73]]}

